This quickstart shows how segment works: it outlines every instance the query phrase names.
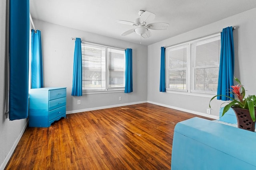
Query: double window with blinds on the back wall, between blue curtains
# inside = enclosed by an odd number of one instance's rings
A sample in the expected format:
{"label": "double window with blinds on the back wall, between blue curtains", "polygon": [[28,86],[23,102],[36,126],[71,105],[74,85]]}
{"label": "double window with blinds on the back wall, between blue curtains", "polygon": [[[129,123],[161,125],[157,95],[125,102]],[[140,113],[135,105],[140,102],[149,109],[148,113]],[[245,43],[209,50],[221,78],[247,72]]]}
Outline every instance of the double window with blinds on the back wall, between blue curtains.
{"label": "double window with blinds on the back wall, between blue curtains", "polygon": [[82,43],[82,89],[124,89],[124,49]]}

